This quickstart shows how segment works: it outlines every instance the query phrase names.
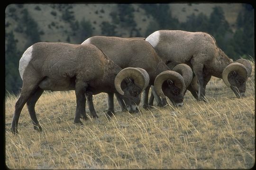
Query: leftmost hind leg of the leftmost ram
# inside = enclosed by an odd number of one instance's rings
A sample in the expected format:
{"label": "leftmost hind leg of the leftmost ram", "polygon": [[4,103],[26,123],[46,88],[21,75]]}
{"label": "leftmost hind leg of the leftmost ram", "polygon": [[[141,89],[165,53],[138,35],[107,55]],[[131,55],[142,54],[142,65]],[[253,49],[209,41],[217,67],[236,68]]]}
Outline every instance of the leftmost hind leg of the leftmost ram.
{"label": "leftmost hind leg of the leftmost ram", "polygon": [[11,122],[11,132],[13,134],[18,134],[18,119],[20,116],[20,112],[26,104],[27,100],[31,97],[31,95],[35,92],[35,90],[38,87],[40,80],[37,77],[34,79],[34,81],[33,75],[29,77],[29,81],[27,79],[23,79],[21,93],[18,98],[18,101],[15,103],[15,110]]}

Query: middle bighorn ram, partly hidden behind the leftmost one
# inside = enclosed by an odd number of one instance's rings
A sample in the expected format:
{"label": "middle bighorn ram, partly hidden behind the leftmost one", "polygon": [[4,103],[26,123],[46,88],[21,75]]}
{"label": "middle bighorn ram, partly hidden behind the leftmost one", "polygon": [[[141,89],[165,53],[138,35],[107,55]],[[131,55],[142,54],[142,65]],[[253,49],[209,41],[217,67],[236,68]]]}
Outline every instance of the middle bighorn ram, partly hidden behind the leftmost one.
{"label": "middle bighorn ram, partly hidden behind the leftmost one", "polygon": [[[150,85],[154,85],[154,82],[156,89],[162,92],[163,97],[166,95],[175,106],[183,105],[183,92],[186,89],[185,85],[190,84],[192,80],[192,70],[187,70],[183,76],[169,70],[156,54],[154,48],[143,38],[93,36],[82,42],[82,44],[97,46],[121,68],[137,67],[146,70],[150,80],[149,86],[144,91],[144,108],[148,108],[148,91]],[[111,112],[114,112],[113,94],[109,95],[109,102],[111,107],[108,113],[111,115]],[[121,107],[125,107],[120,100],[119,104]]]}

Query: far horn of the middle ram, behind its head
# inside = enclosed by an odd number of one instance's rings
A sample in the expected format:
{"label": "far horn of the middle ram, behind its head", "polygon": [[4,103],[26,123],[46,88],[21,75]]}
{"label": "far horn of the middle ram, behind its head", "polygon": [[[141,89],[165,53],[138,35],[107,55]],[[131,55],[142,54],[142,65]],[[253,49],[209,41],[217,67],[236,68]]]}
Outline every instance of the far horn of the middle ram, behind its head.
{"label": "far horn of the middle ram, behind its head", "polygon": [[180,73],[183,76],[186,87],[188,87],[193,78],[192,69],[186,64],[178,64],[174,67],[173,71]]}

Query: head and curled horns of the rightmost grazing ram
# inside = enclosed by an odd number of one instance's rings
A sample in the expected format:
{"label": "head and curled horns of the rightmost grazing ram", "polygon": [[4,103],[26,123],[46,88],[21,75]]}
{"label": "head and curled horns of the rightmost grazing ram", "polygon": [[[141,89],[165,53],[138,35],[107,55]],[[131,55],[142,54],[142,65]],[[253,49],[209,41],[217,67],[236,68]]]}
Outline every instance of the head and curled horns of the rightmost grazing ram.
{"label": "head and curled horns of the rightmost grazing ram", "polygon": [[222,72],[224,83],[232,89],[237,98],[244,97],[247,78],[252,73],[252,66],[246,59],[238,59],[229,64]]}

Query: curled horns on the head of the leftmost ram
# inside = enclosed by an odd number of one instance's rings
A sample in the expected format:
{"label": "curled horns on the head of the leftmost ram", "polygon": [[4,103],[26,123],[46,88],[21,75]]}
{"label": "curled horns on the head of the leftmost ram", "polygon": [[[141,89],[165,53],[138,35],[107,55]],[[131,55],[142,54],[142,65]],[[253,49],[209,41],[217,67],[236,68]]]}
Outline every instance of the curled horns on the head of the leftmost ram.
{"label": "curled horns on the head of the leftmost ram", "polygon": [[121,88],[121,82],[127,78],[133,78],[134,83],[138,85],[140,88],[142,88],[142,91],[144,88],[148,85],[149,82],[149,76],[146,72],[146,70],[142,71],[144,69],[140,68],[124,68],[122,69],[115,78],[115,88],[120,94],[124,94],[124,91]]}

